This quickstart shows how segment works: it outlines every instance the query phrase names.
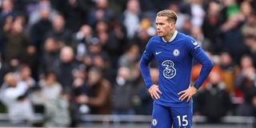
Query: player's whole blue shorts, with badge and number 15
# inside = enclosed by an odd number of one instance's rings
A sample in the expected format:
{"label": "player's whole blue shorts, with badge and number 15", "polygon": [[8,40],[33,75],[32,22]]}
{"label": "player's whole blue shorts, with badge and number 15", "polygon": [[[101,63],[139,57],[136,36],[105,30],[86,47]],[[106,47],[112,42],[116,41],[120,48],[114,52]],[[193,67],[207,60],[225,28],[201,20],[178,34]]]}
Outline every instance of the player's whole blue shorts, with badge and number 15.
{"label": "player's whole blue shorts, with badge and number 15", "polygon": [[192,107],[169,107],[154,103],[151,128],[191,128]]}

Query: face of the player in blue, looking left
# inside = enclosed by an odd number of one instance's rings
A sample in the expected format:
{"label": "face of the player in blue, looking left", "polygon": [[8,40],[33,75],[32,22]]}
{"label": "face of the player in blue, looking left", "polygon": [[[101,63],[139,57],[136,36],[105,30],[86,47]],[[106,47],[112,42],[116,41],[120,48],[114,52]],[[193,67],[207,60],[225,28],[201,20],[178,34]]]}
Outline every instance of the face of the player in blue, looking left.
{"label": "face of the player in blue, looking left", "polygon": [[157,27],[157,33],[160,37],[166,37],[170,35],[174,29],[174,22],[168,22],[167,17],[160,16],[155,19],[155,24]]}

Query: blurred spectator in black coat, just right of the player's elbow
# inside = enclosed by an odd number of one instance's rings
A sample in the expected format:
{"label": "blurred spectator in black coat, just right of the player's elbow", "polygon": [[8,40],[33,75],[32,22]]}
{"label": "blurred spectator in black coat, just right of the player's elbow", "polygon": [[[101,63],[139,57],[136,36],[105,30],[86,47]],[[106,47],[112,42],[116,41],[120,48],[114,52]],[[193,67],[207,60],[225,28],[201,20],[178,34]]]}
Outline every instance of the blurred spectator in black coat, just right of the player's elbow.
{"label": "blurred spectator in black coat, just right of the player's elbow", "polygon": [[206,90],[199,92],[196,99],[196,110],[206,116],[208,122],[220,122],[231,108],[230,94],[216,72],[211,73]]}

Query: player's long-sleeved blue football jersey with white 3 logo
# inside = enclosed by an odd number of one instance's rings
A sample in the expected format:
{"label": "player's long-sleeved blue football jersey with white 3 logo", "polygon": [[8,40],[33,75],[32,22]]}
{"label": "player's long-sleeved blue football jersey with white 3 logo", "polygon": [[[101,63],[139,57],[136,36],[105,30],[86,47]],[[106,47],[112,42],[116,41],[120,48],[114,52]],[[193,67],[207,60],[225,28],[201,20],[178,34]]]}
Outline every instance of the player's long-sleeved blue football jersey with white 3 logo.
{"label": "player's long-sleeved blue football jersey with white 3 logo", "polygon": [[180,101],[178,93],[186,90],[190,85],[193,58],[202,64],[202,70],[195,81],[198,87],[202,85],[213,67],[213,62],[210,61],[198,42],[177,30],[170,41],[165,41],[159,36],[150,38],[140,62],[142,77],[147,88],[153,85],[149,70],[152,58],[155,58],[158,64],[158,88],[162,91],[160,99],[154,102],[173,107],[192,106],[192,99],[189,103],[186,100]]}

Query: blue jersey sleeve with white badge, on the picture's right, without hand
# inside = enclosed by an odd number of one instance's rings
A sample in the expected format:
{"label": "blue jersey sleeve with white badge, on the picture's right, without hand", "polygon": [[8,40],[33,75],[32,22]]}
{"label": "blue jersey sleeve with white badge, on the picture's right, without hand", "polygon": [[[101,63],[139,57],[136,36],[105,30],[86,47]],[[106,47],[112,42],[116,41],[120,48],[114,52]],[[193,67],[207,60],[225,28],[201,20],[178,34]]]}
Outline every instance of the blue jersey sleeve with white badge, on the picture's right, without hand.
{"label": "blue jersey sleeve with white badge, on the picture's right, without hand", "polygon": [[194,82],[194,84],[199,88],[210,74],[210,70],[213,68],[214,64],[206,55],[205,51],[202,50],[202,47],[199,46],[198,42],[194,40],[194,38],[190,37],[187,43],[190,54],[202,65],[198,79],[196,79]]}

